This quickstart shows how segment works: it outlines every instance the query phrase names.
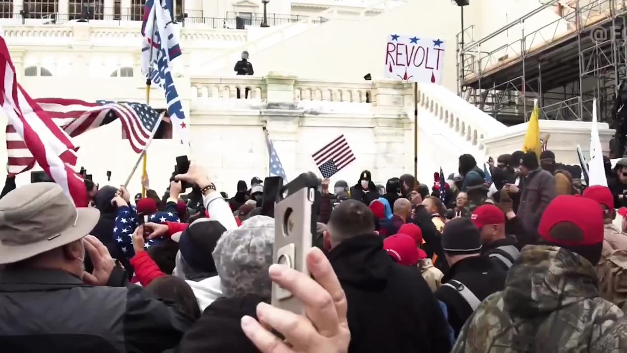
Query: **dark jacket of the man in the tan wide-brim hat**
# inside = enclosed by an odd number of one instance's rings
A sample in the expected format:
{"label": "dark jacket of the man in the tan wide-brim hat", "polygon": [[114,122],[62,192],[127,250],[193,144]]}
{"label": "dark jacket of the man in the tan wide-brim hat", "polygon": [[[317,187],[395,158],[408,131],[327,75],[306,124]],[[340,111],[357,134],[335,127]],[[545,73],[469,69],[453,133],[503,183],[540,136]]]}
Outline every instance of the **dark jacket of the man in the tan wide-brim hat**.
{"label": "dark jacket of the man in the tan wide-brim hat", "polygon": [[90,286],[65,271],[0,272],[3,352],[162,352],[192,318],[139,286]]}

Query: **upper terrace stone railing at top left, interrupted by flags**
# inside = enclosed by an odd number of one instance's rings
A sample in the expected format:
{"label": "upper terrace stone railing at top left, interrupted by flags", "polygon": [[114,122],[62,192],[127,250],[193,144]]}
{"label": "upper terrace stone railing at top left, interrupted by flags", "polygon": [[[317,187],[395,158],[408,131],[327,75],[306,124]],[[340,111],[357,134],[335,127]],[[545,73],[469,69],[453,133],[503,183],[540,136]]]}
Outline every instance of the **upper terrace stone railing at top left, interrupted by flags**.
{"label": "upper terrace stone railing at top left, interrupted by flags", "polygon": [[[234,45],[245,43],[248,38],[246,30],[213,29],[213,28],[181,28],[175,27],[181,42],[189,47],[203,48],[211,42],[226,41]],[[137,26],[112,26],[92,23],[66,23],[62,26],[50,25],[11,25],[4,26],[4,38],[10,45],[40,44],[42,41],[53,41],[50,44],[66,44],[72,41],[85,42],[90,45],[107,44],[112,41],[119,46],[137,46],[142,35]],[[47,45],[48,43],[46,43]]]}

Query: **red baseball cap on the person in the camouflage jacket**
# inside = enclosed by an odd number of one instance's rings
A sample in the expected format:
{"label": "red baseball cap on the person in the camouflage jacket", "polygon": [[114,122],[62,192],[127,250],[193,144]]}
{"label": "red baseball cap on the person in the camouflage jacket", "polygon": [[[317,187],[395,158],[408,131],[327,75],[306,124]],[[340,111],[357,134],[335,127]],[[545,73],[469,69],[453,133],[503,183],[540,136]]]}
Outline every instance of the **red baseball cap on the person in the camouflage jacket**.
{"label": "red baseball cap on the person in the camouflage jacket", "polygon": [[[574,224],[577,232],[557,232],[562,223]],[[598,202],[579,195],[560,195],[547,206],[538,227],[540,237],[558,245],[595,245],[603,241],[603,210]]]}

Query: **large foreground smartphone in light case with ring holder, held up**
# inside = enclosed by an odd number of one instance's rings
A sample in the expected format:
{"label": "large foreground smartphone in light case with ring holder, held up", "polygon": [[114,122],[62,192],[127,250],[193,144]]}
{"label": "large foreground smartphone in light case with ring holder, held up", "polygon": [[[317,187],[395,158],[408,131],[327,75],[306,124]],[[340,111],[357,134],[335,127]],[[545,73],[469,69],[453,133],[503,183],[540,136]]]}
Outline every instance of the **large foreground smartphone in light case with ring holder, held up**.
{"label": "large foreground smartphone in light case with ring holder, held up", "polygon": [[[306,256],[316,234],[318,177],[314,173],[302,173],[292,182],[280,188],[275,213],[275,244],[272,261],[309,275]],[[272,283],[273,306],[303,315],[302,301],[290,291]]]}

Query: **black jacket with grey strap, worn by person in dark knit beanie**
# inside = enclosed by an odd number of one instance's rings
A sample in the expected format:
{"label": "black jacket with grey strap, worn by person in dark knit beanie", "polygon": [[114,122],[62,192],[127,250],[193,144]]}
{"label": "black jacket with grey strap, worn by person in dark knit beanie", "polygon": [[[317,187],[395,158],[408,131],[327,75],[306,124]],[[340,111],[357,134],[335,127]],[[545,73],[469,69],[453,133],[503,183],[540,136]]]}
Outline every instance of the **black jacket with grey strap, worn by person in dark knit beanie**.
{"label": "black jacket with grey strap, worn by person in dark knit beanie", "polygon": [[[505,287],[507,272],[499,266],[495,266],[490,259],[483,256],[465,258],[453,264],[448,273],[442,278],[442,283],[450,280],[461,282],[467,286],[478,300],[484,300],[488,295],[503,290]],[[460,334],[470,314],[472,307],[464,300],[463,296],[450,286],[442,285],[435,295],[446,305],[448,322],[455,331],[455,337]]]}

